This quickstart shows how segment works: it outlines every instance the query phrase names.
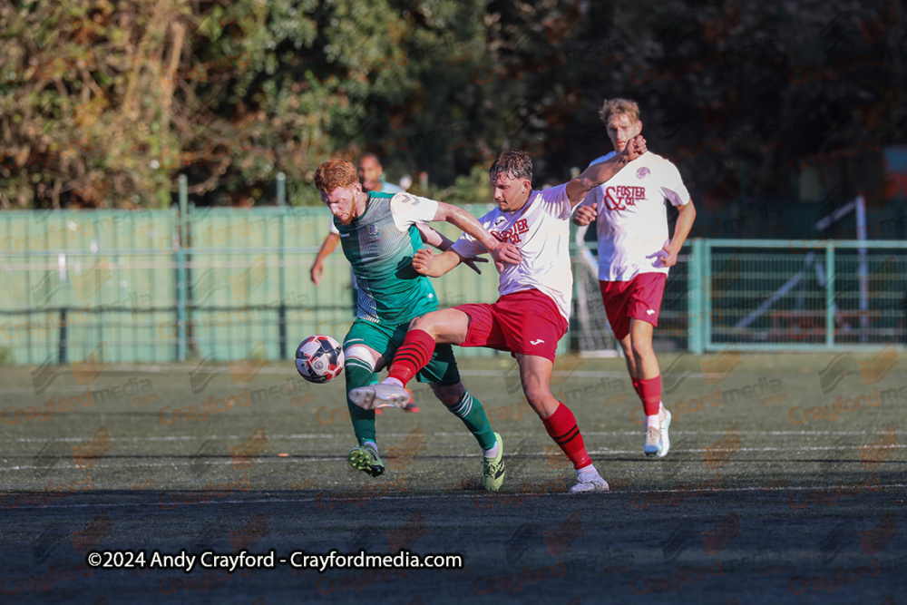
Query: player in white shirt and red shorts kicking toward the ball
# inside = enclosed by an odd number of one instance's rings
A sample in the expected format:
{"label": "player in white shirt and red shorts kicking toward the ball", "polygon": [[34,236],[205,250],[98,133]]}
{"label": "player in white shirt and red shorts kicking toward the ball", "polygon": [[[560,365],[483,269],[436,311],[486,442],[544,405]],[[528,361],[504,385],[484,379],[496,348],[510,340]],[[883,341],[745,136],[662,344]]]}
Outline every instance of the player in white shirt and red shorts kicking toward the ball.
{"label": "player in white shirt and red shorts kicking toward the ball", "polygon": [[[609,161],[541,191],[532,190],[530,157],[522,151],[504,151],[490,171],[498,207],[480,219],[495,239],[511,242],[522,256],[517,265],[497,265],[500,298],[493,305],[460,305],[414,319],[385,381],[350,391],[350,400],[366,409],[407,405],[412,393],[406,383],[428,363],[435,344],[510,351],[520,366],[526,400],[576,469],[578,483],[571,493],[607,492],[608,483],[592,465],[576,418],[551,395],[551,370],[571,312],[572,211],[589,190],[645,151],[646,141],[637,137]],[[416,252],[413,267],[424,275],[440,277],[463,259],[486,251],[472,237],[461,237],[440,256],[434,257],[428,249]]]}

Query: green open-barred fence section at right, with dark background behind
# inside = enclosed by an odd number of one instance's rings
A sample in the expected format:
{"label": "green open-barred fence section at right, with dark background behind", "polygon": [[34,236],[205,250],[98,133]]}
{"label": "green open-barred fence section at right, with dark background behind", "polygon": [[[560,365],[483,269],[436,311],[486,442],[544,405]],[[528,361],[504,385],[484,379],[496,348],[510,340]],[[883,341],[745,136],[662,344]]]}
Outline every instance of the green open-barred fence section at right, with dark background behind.
{"label": "green open-barred fence section at right, with dark background behind", "polygon": [[697,239],[688,348],[874,349],[907,342],[907,242]]}

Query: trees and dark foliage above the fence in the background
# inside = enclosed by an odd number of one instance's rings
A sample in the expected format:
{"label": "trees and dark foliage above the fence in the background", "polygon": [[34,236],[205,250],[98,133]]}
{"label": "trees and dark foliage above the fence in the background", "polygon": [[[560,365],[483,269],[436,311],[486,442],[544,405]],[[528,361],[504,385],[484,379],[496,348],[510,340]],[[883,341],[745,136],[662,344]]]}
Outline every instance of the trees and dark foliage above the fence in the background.
{"label": "trees and dark foliage above the fence in the background", "polygon": [[845,195],[907,139],[902,6],[852,4],[0,0],[0,206],[314,201],[363,151],[464,201],[502,147],[540,184],[607,151],[611,96],[713,210]]}

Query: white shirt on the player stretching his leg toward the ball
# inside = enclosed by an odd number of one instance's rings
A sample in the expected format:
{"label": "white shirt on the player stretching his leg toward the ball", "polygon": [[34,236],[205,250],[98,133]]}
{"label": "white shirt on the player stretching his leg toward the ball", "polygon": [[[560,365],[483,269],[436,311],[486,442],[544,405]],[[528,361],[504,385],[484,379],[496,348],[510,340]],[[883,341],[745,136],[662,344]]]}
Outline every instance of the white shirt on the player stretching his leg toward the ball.
{"label": "white shirt on the player stretching his leg toward the ball", "polygon": [[[573,298],[573,274],[570,264],[570,218],[572,209],[567,198],[567,184],[551,189],[531,191],[526,205],[515,212],[495,208],[479,222],[495,239],[509,241],[520,249],[519,265],[505,265],[498,294],[512,294],[539,289],[557,305],[565,319],[570,319]],[[463,233],[453,250],[470,259],[488,252],[482,243]]]}

